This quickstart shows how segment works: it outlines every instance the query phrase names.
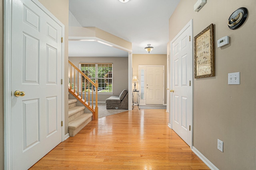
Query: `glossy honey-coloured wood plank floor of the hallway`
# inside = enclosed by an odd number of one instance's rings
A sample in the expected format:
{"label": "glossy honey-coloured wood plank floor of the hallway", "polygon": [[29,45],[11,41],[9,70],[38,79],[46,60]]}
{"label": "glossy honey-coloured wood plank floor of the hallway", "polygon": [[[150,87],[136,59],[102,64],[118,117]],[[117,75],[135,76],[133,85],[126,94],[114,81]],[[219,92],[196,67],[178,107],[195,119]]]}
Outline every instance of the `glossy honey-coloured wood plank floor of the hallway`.
{"label": "glossy honey-coloured wood plank floor of the hallway", "polygon": [[209,170],[168,126],[164,109],[134,108],[91,121],[30,170]]}

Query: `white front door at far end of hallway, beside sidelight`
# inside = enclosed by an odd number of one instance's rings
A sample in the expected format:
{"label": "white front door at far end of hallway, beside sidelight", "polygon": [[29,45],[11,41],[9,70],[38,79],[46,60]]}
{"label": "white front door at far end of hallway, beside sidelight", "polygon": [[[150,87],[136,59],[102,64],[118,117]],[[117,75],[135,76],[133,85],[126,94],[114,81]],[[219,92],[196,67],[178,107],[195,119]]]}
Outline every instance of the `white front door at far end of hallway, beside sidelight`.
{"label": "white front door at far end of hallway, beside sidelight", "polygon": [[164,67],[146,66],[146,104],[164,104]]}

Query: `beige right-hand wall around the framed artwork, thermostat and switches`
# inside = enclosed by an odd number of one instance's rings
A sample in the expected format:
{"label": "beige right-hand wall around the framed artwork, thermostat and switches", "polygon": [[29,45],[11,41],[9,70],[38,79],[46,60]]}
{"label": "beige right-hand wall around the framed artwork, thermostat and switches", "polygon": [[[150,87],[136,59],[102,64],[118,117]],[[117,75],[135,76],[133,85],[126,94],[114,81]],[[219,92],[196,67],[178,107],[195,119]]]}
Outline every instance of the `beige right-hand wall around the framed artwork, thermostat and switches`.
{"label": "beige right-hand wall around the framed artwork, thermostat and switches", "polygon": [[[194,79],[194,147],[220,170],[255,170],[256,167],[256,13],[255,0],[208,0],[194,12],[197,0],[181,0],[169,20],[169,40],[194,21],[194,36],[214,23],[215,43],[228,35],[229,45],[215,46],[215,73]],[[249,11],[236,30],[227,21],[237,8]],[[228,73],[240,72],[240,85],[228,85]],[[224,142],[224,152],[217,149]]]}

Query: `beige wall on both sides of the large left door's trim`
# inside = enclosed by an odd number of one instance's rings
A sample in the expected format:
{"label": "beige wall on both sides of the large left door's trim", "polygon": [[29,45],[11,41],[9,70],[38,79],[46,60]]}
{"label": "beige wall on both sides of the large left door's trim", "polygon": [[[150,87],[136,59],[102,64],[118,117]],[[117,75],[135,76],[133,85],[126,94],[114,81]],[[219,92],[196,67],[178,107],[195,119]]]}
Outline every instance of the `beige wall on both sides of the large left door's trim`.
{"label": "beige wall on both sides of the large left door's trim", "polygon": [[[58,18],[64,25],[65,25],[65,67],[68,63],[68,0],[39,0],[56,18]],[[0,0],[0,93],[4,94],[4,78],[3,78],[3,72],[4,72],[4,64],[3,64],[3,13],[4,13],[4,1]],[[65,71],[65,75],[67,76],[67,71]],[[67,81],[68,82],[68,81]],[[65,86],[66,94],[65,94],[65,102],[68,102],[68,87]],[[4,96],[1,95],[0,97],[0,169],[4,169]],[[65,106],[65,115],[68,117],[68,106]],[[68,119],[66,122],[68,122]],[[65,128],[66,133],[68,133],[68,128]]]}

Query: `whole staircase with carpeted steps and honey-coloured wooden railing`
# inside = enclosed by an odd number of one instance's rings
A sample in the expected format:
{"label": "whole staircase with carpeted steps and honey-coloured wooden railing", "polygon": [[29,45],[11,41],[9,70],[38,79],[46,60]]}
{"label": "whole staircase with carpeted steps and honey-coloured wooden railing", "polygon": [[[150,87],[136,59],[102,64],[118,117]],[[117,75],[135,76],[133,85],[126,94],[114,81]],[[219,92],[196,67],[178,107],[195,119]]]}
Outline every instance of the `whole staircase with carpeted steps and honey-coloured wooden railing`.
{"label": "whole staircase with carpeted steps and honey-coloured wooden railing", "polygon": [[[75,98],[68,100],[68,133],[74,137],[91,120],[98,120],[98,80],[93,82],[70,60],[68,63],[68,92]],[[85,108],[90,113],[84,113]]]}

